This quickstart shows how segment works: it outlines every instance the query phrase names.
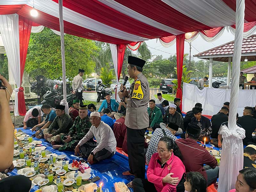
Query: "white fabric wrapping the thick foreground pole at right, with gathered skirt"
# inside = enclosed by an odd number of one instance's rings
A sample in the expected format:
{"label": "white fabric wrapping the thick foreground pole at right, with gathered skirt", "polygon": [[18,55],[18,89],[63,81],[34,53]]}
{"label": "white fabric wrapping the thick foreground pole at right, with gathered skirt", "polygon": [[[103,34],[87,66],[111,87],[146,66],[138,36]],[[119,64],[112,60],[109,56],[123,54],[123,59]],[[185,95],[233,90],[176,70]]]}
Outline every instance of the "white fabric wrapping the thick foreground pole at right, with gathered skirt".
{"label": "white fabric wrapping the thick foreground pole at right, with gathered skirt", "polygon": [[[245,137],[245,133],[239,134],[239,131],[237,131],[236,111],[239,97],[239,72],[244,31],[244,9],[244,0],[236,0],[236,34],[232,64],[228,129],[223,130],[223,143],[227,145],[222,147],[224,159],[221,159],[221,165],[223,164],[223,166],[220,166],[219,172],[219,192],[226,192],[234,188],[239,170],[243,169],[242,139]],[[228,133],[230,135],[228,135]],[[228,135],[227,138],[226,135]],[[240,135],[240,137],[237,135]]]}

